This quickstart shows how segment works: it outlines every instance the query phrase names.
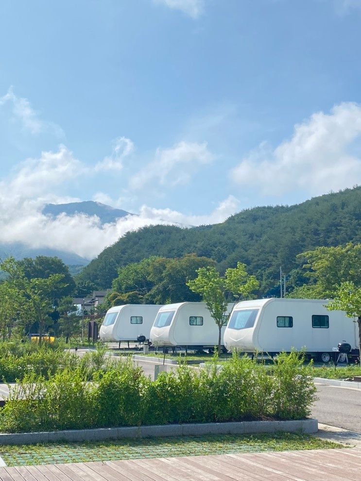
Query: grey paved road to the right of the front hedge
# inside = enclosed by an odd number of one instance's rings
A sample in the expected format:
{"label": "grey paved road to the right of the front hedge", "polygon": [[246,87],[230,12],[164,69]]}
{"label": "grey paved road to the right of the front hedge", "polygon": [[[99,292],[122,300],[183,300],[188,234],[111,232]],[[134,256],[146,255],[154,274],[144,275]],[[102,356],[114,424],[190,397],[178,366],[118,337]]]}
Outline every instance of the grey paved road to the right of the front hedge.
{"label": "grey paved road to the right of the front hedge", "polygon": [[317,391],[312,416],[323,424],[361,432],[361,390],[318,385]]}

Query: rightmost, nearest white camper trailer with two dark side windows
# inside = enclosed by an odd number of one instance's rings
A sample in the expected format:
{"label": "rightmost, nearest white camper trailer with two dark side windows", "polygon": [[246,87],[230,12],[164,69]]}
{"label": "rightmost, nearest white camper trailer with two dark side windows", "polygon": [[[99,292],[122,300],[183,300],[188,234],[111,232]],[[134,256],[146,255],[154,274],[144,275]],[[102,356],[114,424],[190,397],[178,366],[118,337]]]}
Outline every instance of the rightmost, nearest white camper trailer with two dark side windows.
{"label": "rightmost, nearest white camper trailer with two dark side windows", "polygon": [[327,363],[345,341],[359,354],[358,326],[343,311],[327,311],[328,300],[258,299],[238,302],[224,332],[228,350],[290,352],[306,349]]}

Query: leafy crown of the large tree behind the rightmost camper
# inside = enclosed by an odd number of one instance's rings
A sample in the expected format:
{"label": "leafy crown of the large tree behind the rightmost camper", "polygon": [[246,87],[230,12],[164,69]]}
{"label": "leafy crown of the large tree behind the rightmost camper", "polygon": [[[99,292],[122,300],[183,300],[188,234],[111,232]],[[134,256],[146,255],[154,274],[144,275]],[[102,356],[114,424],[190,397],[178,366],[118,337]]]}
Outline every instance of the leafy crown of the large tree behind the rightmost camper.
{"label": "leafy crown of the large tree behind the rightmost camper", "polygon": [[297,255],[306,260],[305,276],[310,283],[293,290],[289,297],[329,299],[343,282],[361,285],[361,244],[349,242],[344,247],[318,247]]}

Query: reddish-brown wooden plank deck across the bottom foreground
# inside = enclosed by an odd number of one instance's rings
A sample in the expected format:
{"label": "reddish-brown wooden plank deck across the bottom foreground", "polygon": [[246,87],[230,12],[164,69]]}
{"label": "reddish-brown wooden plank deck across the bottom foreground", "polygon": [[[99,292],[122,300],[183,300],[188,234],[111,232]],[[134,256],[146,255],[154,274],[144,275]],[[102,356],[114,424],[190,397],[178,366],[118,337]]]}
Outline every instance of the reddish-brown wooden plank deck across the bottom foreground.
{"label": "reddish-brown wooden plank deck across the bottom foreground", "polygon": [[1,481],[361,481],[361,449],[1,467]]}

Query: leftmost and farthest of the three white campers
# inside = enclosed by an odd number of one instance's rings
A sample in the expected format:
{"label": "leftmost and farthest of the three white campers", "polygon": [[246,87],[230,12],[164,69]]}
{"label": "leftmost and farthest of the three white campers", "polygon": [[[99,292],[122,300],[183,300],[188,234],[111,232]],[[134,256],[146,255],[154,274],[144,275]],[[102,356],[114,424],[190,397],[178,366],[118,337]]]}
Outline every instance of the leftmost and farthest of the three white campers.
{"label": "leftmost and farthest of the three white campers", "polygon": [[151,327],[161,305],[125,304],[110,308],[99,331],[102,341],[137,341],[143,334],[149,339]]}

